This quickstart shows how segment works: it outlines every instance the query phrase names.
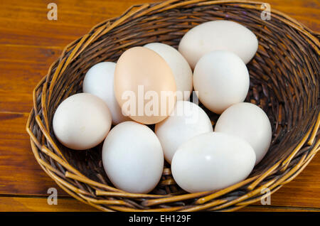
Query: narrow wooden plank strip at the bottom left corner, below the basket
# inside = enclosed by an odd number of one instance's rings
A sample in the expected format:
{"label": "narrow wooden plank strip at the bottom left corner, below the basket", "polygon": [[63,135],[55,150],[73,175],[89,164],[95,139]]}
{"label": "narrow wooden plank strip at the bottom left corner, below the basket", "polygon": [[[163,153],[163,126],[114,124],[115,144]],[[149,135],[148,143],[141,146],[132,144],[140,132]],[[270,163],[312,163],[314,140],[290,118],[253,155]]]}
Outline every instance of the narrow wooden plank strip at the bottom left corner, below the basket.
{"label": "narrow wooden plank strip at the bottom left corner, below the basket", "polygon": [[0,197],[1,212],[92,212],[99,211],[73,198],[59,198],[57,205],[48,205],[47,197]]}

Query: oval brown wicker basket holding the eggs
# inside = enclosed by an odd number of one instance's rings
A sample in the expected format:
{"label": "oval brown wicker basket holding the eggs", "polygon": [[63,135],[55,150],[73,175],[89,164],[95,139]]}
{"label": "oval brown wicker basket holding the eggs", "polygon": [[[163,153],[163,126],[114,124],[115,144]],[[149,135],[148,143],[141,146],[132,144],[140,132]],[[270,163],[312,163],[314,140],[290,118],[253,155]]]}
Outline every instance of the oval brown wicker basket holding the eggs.
{"label": "oval brown wicker basket holding the eggs", "polygon": [[[104,21],[70,43],[33,91],[34,107],[26,129],[36,160],[48,176],[83,203],[105,211],[238,210],[292,181],[320,149],[319,34],[289,16],[272,10],[262,20],[262,3],[251,1],[164,1],[132,6],[122,16]],[[272,144],[249,178],[222,190],[189,194],[176,185],[164,166],[159,185],[150,194],[125,193],[108,180],[102,146],[73,151],[53,134],[58,104],[82,92],[85,72],[102,61],[117,61],[124,50],[151,42],[177,47],[188,29],[206,21],[227,19],[249,28],[259,40],[247,65],[247,102],[267,112]],[[206,109],[205,109],[206,110]],[[217,115],[206,110],[213,122]]]}

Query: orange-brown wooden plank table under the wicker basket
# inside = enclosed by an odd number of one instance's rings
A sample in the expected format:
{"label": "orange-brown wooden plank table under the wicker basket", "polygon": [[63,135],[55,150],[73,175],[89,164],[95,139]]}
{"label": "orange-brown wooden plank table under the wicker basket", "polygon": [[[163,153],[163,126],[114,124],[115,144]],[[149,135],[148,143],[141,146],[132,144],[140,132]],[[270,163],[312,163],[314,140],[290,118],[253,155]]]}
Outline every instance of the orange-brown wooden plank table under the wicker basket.
{"label": "orange-brown wooden plank table under the wicker basket", "polygon": [[[47,5],[58,5],[58,20]],[[150,0],[0,0],[0,211],[95,211],[70,198],[44,173],[31,151],[26,120],[32,90],[65,45],[106,18]],[[320,31],[318,0],[267,0],[277,9]],[[48,205],[48,188],[58,188],[58,205]],[[271,205],[243,211],[319,211],[320,154],[291,183],[274,193]]]}

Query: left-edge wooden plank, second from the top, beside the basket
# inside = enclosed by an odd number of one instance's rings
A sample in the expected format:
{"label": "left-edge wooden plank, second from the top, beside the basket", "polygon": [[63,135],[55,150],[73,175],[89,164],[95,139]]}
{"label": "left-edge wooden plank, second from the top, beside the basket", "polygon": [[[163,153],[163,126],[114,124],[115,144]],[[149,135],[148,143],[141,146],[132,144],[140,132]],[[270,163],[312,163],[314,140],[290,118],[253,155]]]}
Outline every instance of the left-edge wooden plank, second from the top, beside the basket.
{"label": "left-edge wooden plank, second from the top, beside the basket", "polygon": [[62,48],[0,45],[0,112],[30,112],[32,92]]}

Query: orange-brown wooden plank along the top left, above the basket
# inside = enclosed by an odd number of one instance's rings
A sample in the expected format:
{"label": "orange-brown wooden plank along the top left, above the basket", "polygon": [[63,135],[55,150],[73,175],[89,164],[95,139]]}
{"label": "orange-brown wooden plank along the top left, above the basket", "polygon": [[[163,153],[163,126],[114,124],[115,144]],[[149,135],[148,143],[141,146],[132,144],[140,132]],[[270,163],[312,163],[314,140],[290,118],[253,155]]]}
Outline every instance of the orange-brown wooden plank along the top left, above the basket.
{"label": "orange-brown wooden plank along the top left, above the basket", "polygon": [[59,1],[57,21],[47,18],[50,2],[1,2],[0,44],[65,46],[97,23],[119,16],[134,4],[150,1]]}

